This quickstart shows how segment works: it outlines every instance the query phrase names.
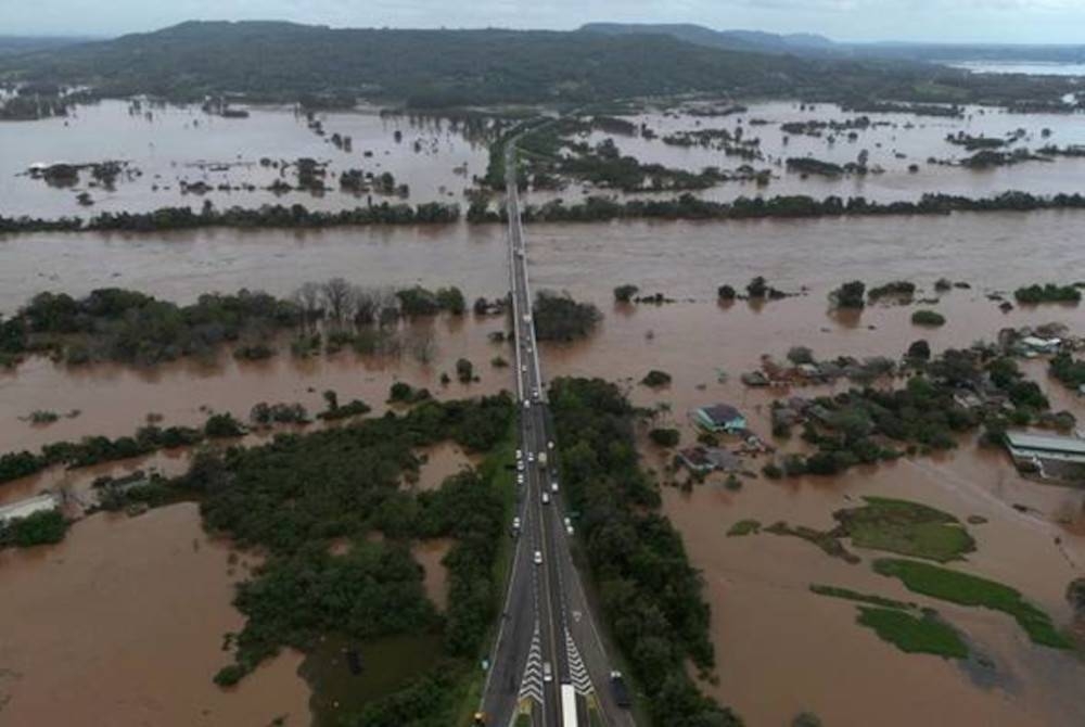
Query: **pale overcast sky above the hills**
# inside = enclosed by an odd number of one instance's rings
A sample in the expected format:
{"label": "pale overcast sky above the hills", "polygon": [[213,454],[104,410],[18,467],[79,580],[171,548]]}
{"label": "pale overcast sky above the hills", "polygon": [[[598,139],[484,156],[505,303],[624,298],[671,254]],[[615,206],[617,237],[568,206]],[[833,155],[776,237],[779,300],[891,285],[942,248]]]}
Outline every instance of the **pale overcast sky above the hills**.
{"label": "pale overcast sky above the hills", "polygon": [[699,23],[838,40],[1085,43],[1085,0],[0,0],[0,34],[119,35],[186,20],[567,29]]}

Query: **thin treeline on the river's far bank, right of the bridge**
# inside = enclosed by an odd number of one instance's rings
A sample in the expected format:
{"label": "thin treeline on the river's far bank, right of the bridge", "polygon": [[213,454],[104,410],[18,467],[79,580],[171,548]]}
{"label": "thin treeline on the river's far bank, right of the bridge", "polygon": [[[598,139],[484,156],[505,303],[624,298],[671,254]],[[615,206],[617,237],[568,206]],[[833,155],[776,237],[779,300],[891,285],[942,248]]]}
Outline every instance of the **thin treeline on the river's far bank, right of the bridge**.
{"label": "thin treeline on the river's far bank, right of the bridge", "polygon": [[[866,197],[831,195],[821,200],[805,194],[774,197],[738,197],[711,202],[692,194],[671,200],[627,200],[590,196],[566,205],[554,200],[522,208],[527,222],[596,222],[614,219],[762,219],[800,217],[863,217],[876,215],[947,215],[953,212],[1030,212],[1085,209],[1085,195],[1004,192],[990,197],[923,194],[918,202],[875,202]],[[503,211],[500,213],[503,216]]]}

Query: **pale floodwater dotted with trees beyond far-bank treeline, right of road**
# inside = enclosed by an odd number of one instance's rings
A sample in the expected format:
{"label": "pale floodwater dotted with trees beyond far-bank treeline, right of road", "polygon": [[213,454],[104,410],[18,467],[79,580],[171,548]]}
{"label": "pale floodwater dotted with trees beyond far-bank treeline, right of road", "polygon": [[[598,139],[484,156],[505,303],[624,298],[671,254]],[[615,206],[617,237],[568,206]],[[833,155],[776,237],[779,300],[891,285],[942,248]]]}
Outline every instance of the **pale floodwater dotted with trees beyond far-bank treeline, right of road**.
{"label": "pale floodwater dotted with trees beyond far-bank treeline, right of road", "polygon": [[[830,141],[832,132],[829,131],[815,138],[787,135],[780,129],[780,125],[788,122],[842,122],[859,116],[868,116],[873,125],[868,129],[857,130],[858,138],[855,141],[848,141],[847,131],[837,132],[835,141]],[[751,119],[769,123],[757,126],[750,124]],[[722,151],[668,145],[663,143],[663,137],[678,131],[709,128],[736,131],[742,127],[745,139],[761,139],[761,151],[765,158],[749,164],[757,169],[771,169],[773,181],[767,187],[757,187],[752,181],[726,182],[701,193],[718,201],[733,200],[741,195],[776,194],[837,194],[879,201],[915,200],[926,192],[985,196],[1006,190],[1023,190],[1054,194],[1080,191],[1082,173],[1085,171],[1085,160],[1060,160],[1050,164],[1029,162],[983,171],[928,164],[929,157],[959,162],[971,156],[972,152],[945,140],[947,135],[957,135],[959,131],[971,136],[1005,138],[1023,128],[1026,136],[1017,145],[1033,151],[1047,144],[1064,146],[1085,143],[1085,116],[1081,114],[1009,114],[995,109],[969,106],[962,118],[936,118],[908,114],[848,113],[833,104],[818,104],[804,110],[799,103],[770,102],[749,104],[746,113],[727,117],[653,112],[629,117],[629,120],[638,126],[647,124],[660,138],[611,137],[624,154],[635,156],[643,163],[663,164],[691,171],[699,171],[705,166],[735,169],[748,162],[737,156],[726,156]],[[1049,129],[1049,137],[1043,137],[1044,129]],[[598,143],[609,136],[597,131],[587,135],[585,140]],[[869,167],[881,167],[883,174],[839,179],[810,175],[803,179],[801,175],[789,173],[783,167],[783,162],[792,156],[813,156],[843,165],[855,162],[864,150],[869,155]],[[908,170],[911,164],[919,165],[918,173]],[[582,188],[579,184],[573,186],[565,191],[564,196],[575,199]]]}

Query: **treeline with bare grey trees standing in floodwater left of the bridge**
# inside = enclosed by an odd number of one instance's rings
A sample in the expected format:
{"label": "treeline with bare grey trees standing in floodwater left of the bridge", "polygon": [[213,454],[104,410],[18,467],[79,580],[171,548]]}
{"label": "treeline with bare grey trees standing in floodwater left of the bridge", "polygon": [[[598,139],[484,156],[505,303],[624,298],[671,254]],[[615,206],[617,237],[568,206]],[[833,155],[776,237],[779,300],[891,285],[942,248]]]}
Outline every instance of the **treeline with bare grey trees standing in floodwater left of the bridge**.
{"label": "treeline with bare grey trees standing in floodwater left of the bridge", "polygon": [[[477,315],[501,307],[484,298],[474,304]],[[261,359],[277,353],[276,337],[289,331],[296,333],[291,352],[297,356],[348,346],[366,354],[393,348],[401,318],[443,311],[467,311],[459,288],[365,288],[332,278],[305,283],[290,298],[241,290],[204,294],[184,306],[119,288],[98,289],[82,298],[46,292],[11,318],[0,318],[0,365],[48,354],[76,366],[97,360],[150,366],[210,357],[226,344],[237,344],[238,358]],[[411,343],[432,357],[432,340]]]}

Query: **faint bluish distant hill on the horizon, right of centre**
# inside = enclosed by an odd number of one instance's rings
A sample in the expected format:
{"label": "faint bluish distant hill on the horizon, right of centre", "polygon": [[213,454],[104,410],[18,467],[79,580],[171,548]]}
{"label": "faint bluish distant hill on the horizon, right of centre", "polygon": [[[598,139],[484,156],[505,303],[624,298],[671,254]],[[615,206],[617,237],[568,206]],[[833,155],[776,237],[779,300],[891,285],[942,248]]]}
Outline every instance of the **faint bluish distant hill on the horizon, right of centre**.
{"label": "faint bluish distant hill on the horizon, right of centre", "polygon": [[652,23],[588,23],[580,26],[582,33],[600,33],[604,35],[666,35],[686,42],[724,48],[728,50],[758,53],[795,53],[825,54],[847,53],[847,47],[841,46],[825,36],[810,33],[779,35],[761,30],[713,30],[703,25],[693,24],[652,24]]}

